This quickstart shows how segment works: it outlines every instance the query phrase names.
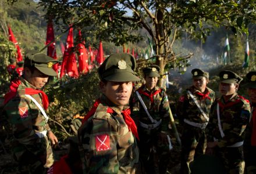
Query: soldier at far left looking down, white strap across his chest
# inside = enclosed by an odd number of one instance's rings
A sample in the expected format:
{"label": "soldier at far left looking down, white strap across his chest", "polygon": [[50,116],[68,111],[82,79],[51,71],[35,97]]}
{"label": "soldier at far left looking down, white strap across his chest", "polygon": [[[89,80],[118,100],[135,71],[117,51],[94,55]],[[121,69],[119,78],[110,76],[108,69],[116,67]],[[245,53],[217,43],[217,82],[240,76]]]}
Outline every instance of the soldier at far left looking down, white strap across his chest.
{"label": "soldier at far left looking down, white strap across his chest", "polygon": [[51,144],[58,139],[47,124],[49,102],[40,89],[56,75],[52,69],[56,62],[43,53],[27,53],[24,74],[12,81],[5,95],[3,114],[12,126],[10,146],[21,173],[46,173],[54,163]]}

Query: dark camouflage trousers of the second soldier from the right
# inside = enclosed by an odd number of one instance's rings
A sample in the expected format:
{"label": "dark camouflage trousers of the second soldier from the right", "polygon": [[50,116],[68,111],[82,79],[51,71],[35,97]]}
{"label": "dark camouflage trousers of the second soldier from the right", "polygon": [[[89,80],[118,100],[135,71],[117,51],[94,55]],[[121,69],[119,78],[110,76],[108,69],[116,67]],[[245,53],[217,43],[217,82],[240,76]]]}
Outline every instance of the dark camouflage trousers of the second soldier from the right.
{"label": "dark camouflage trousers of the second soldier from the right", "polygon": [[215,148],[215,153],[225,166],[226,173],[243,174],[245,168],[243,146]]}

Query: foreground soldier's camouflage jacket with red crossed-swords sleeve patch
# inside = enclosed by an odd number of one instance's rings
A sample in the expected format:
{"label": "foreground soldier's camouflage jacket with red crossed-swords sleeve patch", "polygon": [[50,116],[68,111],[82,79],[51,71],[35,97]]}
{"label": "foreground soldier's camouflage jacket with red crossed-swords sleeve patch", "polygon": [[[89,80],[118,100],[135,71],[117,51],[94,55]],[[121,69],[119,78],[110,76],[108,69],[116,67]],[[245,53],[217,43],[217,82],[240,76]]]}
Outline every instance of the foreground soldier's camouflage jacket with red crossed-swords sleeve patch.
{"label": "foreground soldier's camouflage jacket with red crossed-swords sleeve patch", "polygon": [[[104,95],[100,101],[94,115],[78,131],[83,173],[136,173],[136,138],[129,131],[120,108]],[[115,113],[108,113],[108,107]]]}

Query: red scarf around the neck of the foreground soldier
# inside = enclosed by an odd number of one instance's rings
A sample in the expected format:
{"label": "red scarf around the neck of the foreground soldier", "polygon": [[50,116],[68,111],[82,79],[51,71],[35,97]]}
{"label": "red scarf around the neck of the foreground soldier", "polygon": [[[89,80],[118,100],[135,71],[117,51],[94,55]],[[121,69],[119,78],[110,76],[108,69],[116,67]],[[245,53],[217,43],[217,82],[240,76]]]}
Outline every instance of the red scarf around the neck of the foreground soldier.
{"label": "red scarf around the neck of the foreground soldier", "polygon": [[[93,104],[93,108],[91,108],[91,110],[86,114],[86,117],[84,117],[82,124],[86,122],[95,113],[100,103],[101,101],[97,99],[96,102]],[[108,107],[108,110],[106,110],[106,112],[111,114],[115,113],[115,111],[112,110],[112,108],[110,107]],[[130,108],[127,108],[126,110],[122,111],[122,115],[123,115],[123,118],[125,119],[126,125],[128,126],[129,130],[133,133],[133,135],[136,136],[137,139],[139,140],[137,126],[133,121],[133,119],[130,117],[130,114],[131,114]]]}

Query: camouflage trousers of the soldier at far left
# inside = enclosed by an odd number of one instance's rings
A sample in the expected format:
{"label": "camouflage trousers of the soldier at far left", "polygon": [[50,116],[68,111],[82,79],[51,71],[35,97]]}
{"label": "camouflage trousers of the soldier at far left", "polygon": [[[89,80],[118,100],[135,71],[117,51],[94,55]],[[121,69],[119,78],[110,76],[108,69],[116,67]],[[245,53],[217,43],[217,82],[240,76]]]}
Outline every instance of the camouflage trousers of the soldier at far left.
{"label": "camouflage trousers of the soldier at far left", "polygon": [[38,149],[38,155],[35,155],[36,151],[31,152],[22,146],[15,148],[13,156],[18,162],[20,173],[47,173],[54,164],[54,154],[48,137],[41,139],[45,139],[44,149],[46,148],[46,151],[41,153]]}

